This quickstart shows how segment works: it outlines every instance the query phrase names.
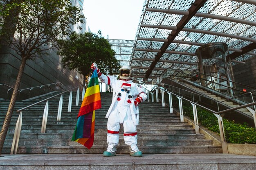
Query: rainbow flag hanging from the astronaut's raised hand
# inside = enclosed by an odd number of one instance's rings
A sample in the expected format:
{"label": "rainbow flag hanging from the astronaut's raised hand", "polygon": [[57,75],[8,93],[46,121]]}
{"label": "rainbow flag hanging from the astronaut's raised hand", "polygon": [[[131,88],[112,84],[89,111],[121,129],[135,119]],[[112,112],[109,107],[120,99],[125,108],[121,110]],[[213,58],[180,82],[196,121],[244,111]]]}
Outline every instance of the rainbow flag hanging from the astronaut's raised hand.
{"label": "rainbow flag hanging from the astronaut's raised hand", "polygon": [[81,104],[72,141],[90,149],[94,141],[95,110],[101,108],[101,96],[97,70],[92,73],[88,88]]}

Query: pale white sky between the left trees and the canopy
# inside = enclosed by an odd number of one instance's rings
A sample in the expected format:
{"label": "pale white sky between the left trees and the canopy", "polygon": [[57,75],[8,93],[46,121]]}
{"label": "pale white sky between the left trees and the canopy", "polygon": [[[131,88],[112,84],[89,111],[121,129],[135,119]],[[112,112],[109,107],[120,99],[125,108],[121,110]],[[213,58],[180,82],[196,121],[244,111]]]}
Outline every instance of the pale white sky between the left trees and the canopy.
{"label": "pale white sky between the left trees and the canopy", "polygon": [[144,0],[84,0],[84,15],[92,33],[109,39],[134,40]]}

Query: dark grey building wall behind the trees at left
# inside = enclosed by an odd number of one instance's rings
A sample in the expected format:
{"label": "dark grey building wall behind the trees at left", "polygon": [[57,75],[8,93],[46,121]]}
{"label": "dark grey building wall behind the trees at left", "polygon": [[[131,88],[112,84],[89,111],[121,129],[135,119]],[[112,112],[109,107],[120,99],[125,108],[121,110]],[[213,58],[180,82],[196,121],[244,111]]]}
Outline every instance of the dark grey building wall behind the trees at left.
{"label": "dark grey building wall behind the trees at left", "polygon": [[[58,89],[63,91],[83,84],[83,76],[76,70],[64,68],[56,51],[50,50],[49,54],[27,61],[20,89],[61,82],[64,86]],[[14,51],[0,54],[0,84],[14,87],[20,63],[21,58]],[[56,90],[54,86],[50,87]],[[9,98],[11,93],[6,95],[7,89],[8,87],[0,86],[0,98]],[[45,88],[45,92],[48,90]]]}

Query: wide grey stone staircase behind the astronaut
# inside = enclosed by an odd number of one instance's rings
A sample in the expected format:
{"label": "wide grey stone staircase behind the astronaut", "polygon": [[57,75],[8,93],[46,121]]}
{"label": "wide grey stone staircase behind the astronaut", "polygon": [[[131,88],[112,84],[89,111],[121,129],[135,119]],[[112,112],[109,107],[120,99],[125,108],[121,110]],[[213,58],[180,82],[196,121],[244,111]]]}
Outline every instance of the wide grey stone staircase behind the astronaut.
{"label": "wide grey stone staircase behind the astronaut", "polygon": [[[105,115],[110,107],[112,94],[101,93],[102,108],[95,113],[94,145],[90,150],[77,142],[71,141],[81,101],[79,106],[74,106],[76,96],[73,95],[72,111],[67,112],[68,97],[69,94],[63,95],[61,121],[56,121],[59,97],[49,101],[45,134],[40,133],[45,102],[23,111],[22,130],[17,154],[101,154],[106,150],[107,119]],[[18,101],[16,102],[15,110],[42,99]],[[8,102],[7,100],[0,101],[1,126]],[[138,148],[142,153],[222,153],[221,146],[213,146],[212,140],[205,139],[202,134],[195,134],[195,130],[191,125],[188,125],[187,122],[180,122],[180,116],[169,113],[169,109],[162,107],[161,103],[145,101],[139,105],[139,110],[139,126],[137,126]],[[2,154],[10,153],[18,115],[18,113],[13,113]],[[124,144],[122,127],[117,153],[129,153],[128,146]]]}

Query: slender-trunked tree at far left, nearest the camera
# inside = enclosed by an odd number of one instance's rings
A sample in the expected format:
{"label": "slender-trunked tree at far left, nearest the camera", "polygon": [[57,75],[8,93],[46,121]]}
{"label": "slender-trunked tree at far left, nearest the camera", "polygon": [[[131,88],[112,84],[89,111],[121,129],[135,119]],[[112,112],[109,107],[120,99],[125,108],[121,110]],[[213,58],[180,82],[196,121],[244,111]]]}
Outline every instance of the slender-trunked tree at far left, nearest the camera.
{"label": "slender-trunked tree at far left, nearest the camera", "polygon": [[[21,58],[0,133],[1,154],[26,61],[47,55],[47,50],[57,48],[57,40],[69,36],[72,25],[83,23],[84,16],[70,0],[3,0],[0,3],[1,45],[9,46]],[[14,15],[13,11],[16,11]]]}

